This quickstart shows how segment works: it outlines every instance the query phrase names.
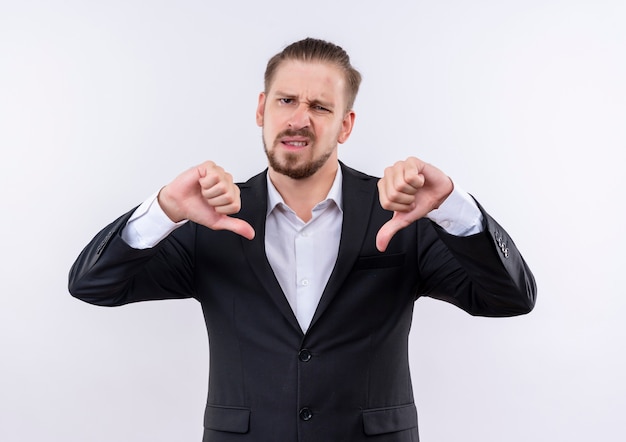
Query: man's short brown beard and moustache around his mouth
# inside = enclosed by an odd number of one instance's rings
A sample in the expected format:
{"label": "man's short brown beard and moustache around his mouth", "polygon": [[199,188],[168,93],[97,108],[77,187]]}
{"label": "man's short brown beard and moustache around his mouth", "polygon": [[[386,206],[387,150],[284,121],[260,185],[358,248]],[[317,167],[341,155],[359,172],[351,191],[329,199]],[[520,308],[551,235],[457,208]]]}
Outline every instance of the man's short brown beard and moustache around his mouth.
{"label": "man's short brown beard and moustache around his mouth", "polygon": [[278,155],[276,154],[275,147],[278,144],[280,144],[279,140],[285,136],[307,137],[309,139],[309,148],[312,149],[315,144],[315,135],[307,129],[285,130],[276,136],[276,139],[274,140],[274,144],[273,144],[274,149],[272,149],[271,151],[267,149],[267,143],[265,143],[265,136],[263,136],[263,148],[265,149],[265,155],[267,155],[267,159],[269,161],[270,167],[274,171],[282,175],[286,175],[291,179],[302,180],[302,179],[309,178],[310,176],[314,175],[315,172],[320,170],[322,166],[326,164],[326,161],[328,161],[328,158],[330,158],[330,156],[333,153],[333,149],[329,149],[328,151],[324,152],[322,156],[320,156],[319,158],[312,158],[311,160],[307,160],[304,163],[302,163],[300,160],[300,155],[291,153],[291,152],[286,152],[283,155],[283,161],[281,162],[281,160],[278,159]]}

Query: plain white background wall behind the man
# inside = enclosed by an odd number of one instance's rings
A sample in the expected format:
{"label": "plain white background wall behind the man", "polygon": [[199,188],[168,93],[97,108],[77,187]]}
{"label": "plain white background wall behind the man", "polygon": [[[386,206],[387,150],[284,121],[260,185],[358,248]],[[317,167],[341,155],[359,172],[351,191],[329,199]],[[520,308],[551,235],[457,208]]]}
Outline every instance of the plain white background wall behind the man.
{"label": "plain white background wall behind the man", "polygon": [[201,440],[197,303],[94,307],[67,272],[182,170],[263,169],[265,63],[307,36],[363,73],[340,158],[434,163],[537,278],[519,318],[417,302],[422,440],[625,440],[625,23],[623,0],[0,0],[0,440]]}

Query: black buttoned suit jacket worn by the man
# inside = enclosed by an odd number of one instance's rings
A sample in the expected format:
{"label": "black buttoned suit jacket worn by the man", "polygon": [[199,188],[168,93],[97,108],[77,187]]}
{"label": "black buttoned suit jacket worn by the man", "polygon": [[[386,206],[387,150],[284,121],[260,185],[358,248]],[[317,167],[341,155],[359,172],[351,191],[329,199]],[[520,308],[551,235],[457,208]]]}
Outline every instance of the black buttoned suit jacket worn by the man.
{"label": "black buttoned suit jacket worn by the man", "polygon": [[481,234],[451,236],[422,219],[378,252],[376,234],[391,213],[380,207],[377,178],[341,167],[339,255],[306,333],[265,255],[266,172],[240,184],[237,216],[254,227],[254,240],[187,223],[157,247],[134,250],[119,235],[128,213],[70,272],[71,293],[93,304],[200,302],[210,342],[204,442],[415,442],[414,301],[431,296],[484,316],[534,305],[530,270],[487,213]]}

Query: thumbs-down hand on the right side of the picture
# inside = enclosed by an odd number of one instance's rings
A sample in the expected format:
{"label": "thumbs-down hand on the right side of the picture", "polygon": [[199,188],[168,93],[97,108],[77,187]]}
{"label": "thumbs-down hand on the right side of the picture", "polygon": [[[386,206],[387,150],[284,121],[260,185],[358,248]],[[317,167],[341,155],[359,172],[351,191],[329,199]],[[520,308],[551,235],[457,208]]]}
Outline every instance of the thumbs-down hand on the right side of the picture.
{"label": "thumbs-down hand on the right side of the picture", "polygon": [[438,208],[453,189],[445,173],[415,157],[386,168],[378,193],[380,205],[393,217],[378,231],[376,248],[384,252],[398,231]]}

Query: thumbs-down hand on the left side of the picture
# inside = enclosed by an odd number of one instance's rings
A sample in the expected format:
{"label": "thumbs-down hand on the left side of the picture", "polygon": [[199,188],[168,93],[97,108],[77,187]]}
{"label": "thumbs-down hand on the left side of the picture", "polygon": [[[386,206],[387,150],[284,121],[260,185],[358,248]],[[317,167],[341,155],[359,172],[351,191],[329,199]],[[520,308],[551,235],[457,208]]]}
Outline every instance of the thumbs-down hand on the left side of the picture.
{"label": "thumbs-down hand on the left side of the picture", "polygon": [[161,189],[158,202],[173,222],[188,219],[209,229],[230,230],[244,238],[254,238],[250,224],[228,216],[241,209],[239,187],[231,174],[212,161],[176,177]]}

